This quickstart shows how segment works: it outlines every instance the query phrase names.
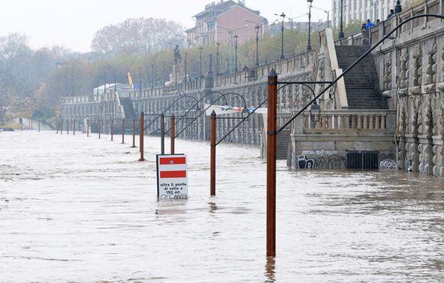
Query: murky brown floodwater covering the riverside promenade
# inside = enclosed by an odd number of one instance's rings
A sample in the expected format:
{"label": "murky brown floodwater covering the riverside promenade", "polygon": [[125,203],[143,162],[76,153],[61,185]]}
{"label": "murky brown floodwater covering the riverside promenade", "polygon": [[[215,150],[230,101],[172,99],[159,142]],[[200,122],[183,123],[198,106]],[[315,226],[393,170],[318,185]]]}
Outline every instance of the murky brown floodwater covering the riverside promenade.
{"label": "murky brown floodwater covering the riverside promenade", "polygon": [[444,282],[443,179],[278,162],[267,259],[259,150],[219,145],[210,197],[209,145],[178,140],[190,198],[157,201],[159,140],[0,133],[0,282]]}

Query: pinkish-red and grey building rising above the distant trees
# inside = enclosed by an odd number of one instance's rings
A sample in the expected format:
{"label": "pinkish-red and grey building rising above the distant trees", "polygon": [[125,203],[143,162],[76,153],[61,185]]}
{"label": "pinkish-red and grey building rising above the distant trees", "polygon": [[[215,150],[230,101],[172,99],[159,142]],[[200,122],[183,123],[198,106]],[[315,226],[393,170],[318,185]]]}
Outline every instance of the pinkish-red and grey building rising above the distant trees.
{"label": "pinkish-red and grey building rising above the distant trees", "polygon": [[249,9],[240,0],[220,0],[217,4],[212,2],[193,18],[195,26],[185,30],[190,45],[231,41],[234,35],[238,36],[238,43],[242,44],[256,36],[256,25],[259,25],[261,34],[268,30],[266,18],[260,16],[259,11]]}

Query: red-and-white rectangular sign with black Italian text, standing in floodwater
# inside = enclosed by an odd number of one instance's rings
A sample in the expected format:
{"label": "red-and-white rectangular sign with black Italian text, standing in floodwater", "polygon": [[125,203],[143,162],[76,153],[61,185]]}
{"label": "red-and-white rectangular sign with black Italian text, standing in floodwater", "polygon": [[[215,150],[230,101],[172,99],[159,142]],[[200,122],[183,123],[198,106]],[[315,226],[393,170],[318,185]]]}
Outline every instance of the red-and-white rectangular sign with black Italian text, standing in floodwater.
{"label": "red-and-white rectangular sign with black Italian text, standing in floodwater", "polygon": [[187,199],[186,155],[156,155],[157,196],[159,199]]}

